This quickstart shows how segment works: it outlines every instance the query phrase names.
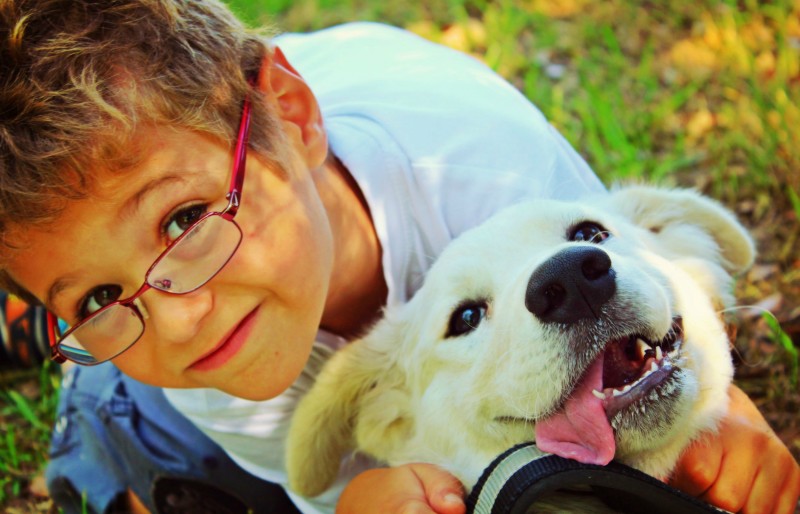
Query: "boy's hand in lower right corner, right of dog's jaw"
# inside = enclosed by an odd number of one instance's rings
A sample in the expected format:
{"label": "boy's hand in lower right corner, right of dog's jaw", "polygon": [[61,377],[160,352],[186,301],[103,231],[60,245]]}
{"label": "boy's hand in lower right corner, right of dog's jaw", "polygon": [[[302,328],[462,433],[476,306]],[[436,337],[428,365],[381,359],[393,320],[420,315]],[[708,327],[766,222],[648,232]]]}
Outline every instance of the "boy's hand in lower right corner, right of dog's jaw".
{"label": "boy's hand in lower right corner, right of dog's jaw", "polygon": [[671,484],[730,512],[792,514],[800,466],[750,398],[735,386],[728,394],[719,435],[690,446]]}

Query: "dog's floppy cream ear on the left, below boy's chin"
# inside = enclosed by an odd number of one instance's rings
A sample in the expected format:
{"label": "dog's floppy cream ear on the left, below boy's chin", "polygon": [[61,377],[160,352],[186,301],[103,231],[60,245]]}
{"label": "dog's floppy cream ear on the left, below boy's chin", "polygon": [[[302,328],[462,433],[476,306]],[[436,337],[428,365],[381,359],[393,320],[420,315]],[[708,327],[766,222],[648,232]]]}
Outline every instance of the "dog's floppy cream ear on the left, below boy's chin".
{"label": "dog's floppy cream ear on the left, below boy's chin", "polygon": [[286,453],[292,490],[316,496],[333,483],[347,452],[386,458],[370,449],[391,451],[404,439],[408,395],[393,357],[400,334],[384,320],[325,364],[292,417]]}

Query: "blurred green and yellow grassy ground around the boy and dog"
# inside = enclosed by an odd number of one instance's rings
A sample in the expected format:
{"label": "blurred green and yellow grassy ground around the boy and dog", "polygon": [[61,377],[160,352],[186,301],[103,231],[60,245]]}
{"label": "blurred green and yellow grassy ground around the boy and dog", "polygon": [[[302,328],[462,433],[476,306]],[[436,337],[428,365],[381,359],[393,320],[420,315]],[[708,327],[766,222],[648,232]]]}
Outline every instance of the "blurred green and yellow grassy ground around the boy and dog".
{"label": "blurred green and yellow grassy ground around the boy and dog", "polygon": [[[254,28],[372,20],[472,54],[606,184],[695,187],[734,209],[760,252],[730,320],[737,383],[800,458],[800,0],[227,3]],[[52,509],[57,382],[50,366],[0,370],[0,511]]]}

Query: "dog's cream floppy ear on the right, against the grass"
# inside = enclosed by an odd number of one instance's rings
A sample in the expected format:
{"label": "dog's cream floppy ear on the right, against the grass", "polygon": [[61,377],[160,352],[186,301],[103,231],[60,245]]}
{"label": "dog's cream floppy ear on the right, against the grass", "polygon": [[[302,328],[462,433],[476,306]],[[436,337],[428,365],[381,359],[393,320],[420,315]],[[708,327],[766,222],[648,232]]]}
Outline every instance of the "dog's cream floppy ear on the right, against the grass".
{"label": "dog's cream floppy ear on the right, against the grass", "polygon": [[695,191],[631,186],[614,191],[611,200],[676,255],[717,262],[731,274],[753,264],[755,246],[744,227],[720,203]]}

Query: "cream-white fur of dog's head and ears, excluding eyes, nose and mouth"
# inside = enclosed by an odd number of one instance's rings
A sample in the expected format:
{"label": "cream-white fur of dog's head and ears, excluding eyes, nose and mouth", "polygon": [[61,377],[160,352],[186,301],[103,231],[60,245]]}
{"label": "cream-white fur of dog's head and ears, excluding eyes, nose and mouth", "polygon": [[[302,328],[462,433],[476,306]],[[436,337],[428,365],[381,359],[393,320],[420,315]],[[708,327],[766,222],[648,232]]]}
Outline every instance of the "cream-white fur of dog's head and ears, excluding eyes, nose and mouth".
{"label": "cream-white fur of dog's head and ears, excluding eyes, nose and mouth", "polygon": [[[357,450],[391,465],[438,464],[469,489],[494,457],[532,440],[536,420],[558,408],[585,363],[564,333],[525,308],[525,288],[554,253],[592,244],[566,239],[583,220],[613,234],[598,247],[616,272],[611,302],[630,318],[618,325],[664,334],[673,316],[683,318],[674,422],[615,436],[616,459],[670,473],[686,445],[726,412],[732,365],[716,311],[732,301],[730,275],[752,263],[754,249],[716,202],[631,187],[581,203],[514,206],[454,241],[414,298],[334,355],[301,402],[289,436],[291,487],[319,494]],[[446,337],[453,309],[479,299],[488,314],[477,329]]]}

